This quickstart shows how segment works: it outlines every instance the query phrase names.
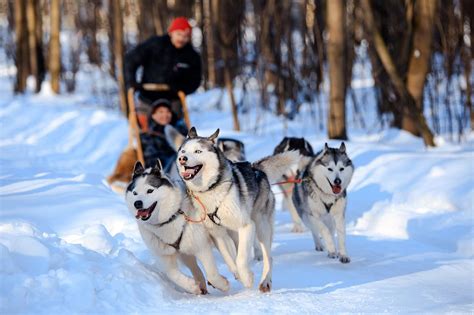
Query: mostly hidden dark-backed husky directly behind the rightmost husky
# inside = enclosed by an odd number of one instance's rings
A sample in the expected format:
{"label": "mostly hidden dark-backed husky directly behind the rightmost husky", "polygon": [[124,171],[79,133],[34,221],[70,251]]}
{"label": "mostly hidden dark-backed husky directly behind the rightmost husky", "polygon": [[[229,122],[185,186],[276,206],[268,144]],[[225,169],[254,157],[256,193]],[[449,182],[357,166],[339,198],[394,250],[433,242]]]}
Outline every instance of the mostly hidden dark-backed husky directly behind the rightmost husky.
{"label": "mostly hidden dark-backed husky directly behind the rightmost husky", "polygon": [[[275,147],[273,155],[283,153],[286,151],[297,150],[300,155],[300,163],[293,169],[289,170],[283,175],[283,180],[294,179],[296,176],[301,173],[302,169],[306,167],[305,162],[314,156],[313,147],[311,144],[306,141],[304,138],[294,138],[294,137],[285,137],[283,140]],[[283,192],[283,205],[290,211],[291,218],[293,219],[293,229],[292,232],[301,233],[304,231],[303,222],[296,212],[296,208],[293,205],[292,195],[293,195],[293,184],[282,184],[280,185],[281,191]]]}

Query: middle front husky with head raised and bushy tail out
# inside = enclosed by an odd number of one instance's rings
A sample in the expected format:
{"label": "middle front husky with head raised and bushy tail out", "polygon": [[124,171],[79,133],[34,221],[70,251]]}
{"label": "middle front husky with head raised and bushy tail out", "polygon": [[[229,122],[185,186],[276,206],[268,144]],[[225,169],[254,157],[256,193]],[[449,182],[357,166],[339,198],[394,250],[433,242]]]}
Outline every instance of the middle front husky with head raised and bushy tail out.
{"label": "middle front husky with head raised and bushy tail out", "polygon": [[[209,233],[224,260],[235,261],[239,280],[245,287],[253,286],[253,273],[249,258],[255,233],[263,253],[263,273],[259,289],[271,289],[271,244],[275,197],[270,182],[280,178],[297,162],[297,152],[286,152],[257,161],[234,163],[216,146],[219,129],[210,137],[199,137],[196,129],[178,150],[176,161],[179,173],[190,192],[195,206],[202,203],[209,220],[205,221]],[[232,253],[233,242],[222,228],[238,232],[237,256]],[[229,245],[231,244],[231,245]],[[231,268],[232,269],[232,268]]]}

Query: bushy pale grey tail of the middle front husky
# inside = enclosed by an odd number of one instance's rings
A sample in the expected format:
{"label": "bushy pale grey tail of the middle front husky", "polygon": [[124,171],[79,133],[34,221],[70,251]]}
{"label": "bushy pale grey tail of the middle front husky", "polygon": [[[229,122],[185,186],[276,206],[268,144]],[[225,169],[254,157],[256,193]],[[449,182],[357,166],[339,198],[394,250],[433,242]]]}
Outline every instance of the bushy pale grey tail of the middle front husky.
{"label": "bushy pale grey tail of the middle front husky", "polygon": [[270,184],[281,180],[294,165],[298,164],[300,154],[298,151],[286,151],[276,155],[264,157],[252,164],[253,167],[264,172]]}

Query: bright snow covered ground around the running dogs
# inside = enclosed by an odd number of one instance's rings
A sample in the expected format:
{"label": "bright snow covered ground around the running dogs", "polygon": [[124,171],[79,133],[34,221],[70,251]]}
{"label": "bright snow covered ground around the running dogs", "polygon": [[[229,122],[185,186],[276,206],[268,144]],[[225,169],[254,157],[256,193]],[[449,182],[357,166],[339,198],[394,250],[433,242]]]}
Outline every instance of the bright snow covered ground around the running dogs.
{"label": "bright snow covered ground around the running dogs", "polygon": [[[403,132],[350,130],[351,263],[314,251],[310,233],[291,233],[290,215],[278,206],[273,291],[244,289],[218,258],[231,291],[192,296],[160,274],[123,198],[104,182],[126,145],[126,121],[84,96],[13,97],[8,89],[0,87],[2,314],[474,310],[472,134],[461,145],[438,138],[439,147],[425,149]],[[283,123],[262,116],[258,136],[234,133],[228,111],[208,106],[218,95],[190,99],[198,131],[219,127],[241,139],[250,160],[270,154]],[[255,121],[255,113],[245,114],[244,129]],[[315,128],[301,117],[287,134],[319,149],[325,135]],[[254,263],[257,278],[261,268]]]}

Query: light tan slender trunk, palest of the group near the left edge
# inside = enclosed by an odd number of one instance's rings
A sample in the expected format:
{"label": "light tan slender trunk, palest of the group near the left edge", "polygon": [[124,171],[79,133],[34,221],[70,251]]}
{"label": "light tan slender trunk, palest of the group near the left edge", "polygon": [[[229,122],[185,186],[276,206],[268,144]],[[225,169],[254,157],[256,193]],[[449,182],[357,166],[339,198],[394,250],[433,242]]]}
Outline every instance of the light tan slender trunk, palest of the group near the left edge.
{"label": "light tan slender trunk, palest of the group near the left edge", "polygon": [[59,32],[61,30],[61,0],[51,0],[51,38],[49,41],[49,73],[51,89],[59,93],[59,75],[61,71],[61,44]]}

